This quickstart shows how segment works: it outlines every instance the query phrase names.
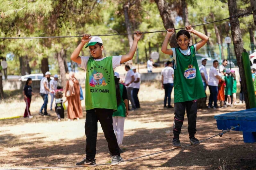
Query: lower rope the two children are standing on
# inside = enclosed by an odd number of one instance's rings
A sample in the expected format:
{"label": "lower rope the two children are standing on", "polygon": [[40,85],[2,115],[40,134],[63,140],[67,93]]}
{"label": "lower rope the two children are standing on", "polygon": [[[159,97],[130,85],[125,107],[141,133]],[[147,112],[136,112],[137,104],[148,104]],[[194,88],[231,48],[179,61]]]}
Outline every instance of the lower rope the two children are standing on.
{"label": "lower rope the two children are standing on", "polygon": [[[222,130],[221,133],[219,134],[216,134],[216,135],[213,135],[207,139],[204,139],[204,140],[201,140],[200,143],[206,141],[206,140],[209,140],[213,137],[216,137],[216,136],[220,136],[222,137],[223,134],[226,134],[227,132],[230,132],[231,130],[234,130],[235,128],[239,127],[240,125],[238,124],[237,126],[233,127],[231,126],[230,129],[227,128],[227,130]],[[181,148],[186,148],[186,147],[189,147],[191,145],[185,145]],[[173,148],[173,149],[168,149],[168,150],[164,150],[164,151],[159,151],[159,152],[155,152],[155,153],[151,153],[151,154],[148,154],[148,155],[144,155],[144,156],[140,156],[140,157],[135,157],[135,158],[131,158],[131,159],[127,159],[127,160],[124,160],[122,162],[127,162],[127,161],[131,161],[131,160],[135,160],[135,159],[139,159],[139,158],[143,158],[143,157],[148,157],[148,156],[151,156],[151,155],[156,155],[156,154],[159,154],[159,153],[163,153],[163,152],[169,152],[169,151],[172,151],[172,150],[175,150],[175,149],[180,149],[180,148]],[[97,166],[102,166],[102,165],[110,165],[111,163],[102,163],[102,164],[97,164]],[[29,170],[29,169],[59,169],[59,168],[84,168],[85,166],[66,166],[66,167],[34,167],[34,168],[14,168],[14,169],[0,169],[0,170]]]}

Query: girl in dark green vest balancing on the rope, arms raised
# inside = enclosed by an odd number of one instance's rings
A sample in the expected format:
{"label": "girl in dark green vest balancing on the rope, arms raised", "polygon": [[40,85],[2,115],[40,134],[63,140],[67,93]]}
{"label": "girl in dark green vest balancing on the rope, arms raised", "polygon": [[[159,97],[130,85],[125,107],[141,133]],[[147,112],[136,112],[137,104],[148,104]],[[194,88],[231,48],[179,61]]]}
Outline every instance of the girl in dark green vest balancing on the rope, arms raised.
{"label": "girl in dark green vest balancing on the rope, arms raised", "polygon": [[[195,57],[198,51],[207,41],[208,36],[201,32],[195,31],[191,25],[185,26],[186,30],[180,30],[176,39],[178,48],[167,49],[167,45],[174,29],[167,29],[162,52],[171,55],[174,63],[174,123],[173,123],[173,140],[172,145],[181,148],[180,133],[183,125],[185,110],[189,122],[189,141],[193,146],[199,145],[200,142],[195,138],[196,133],[196,114],[197,99],[205,97],[202,79]],[[197,35],[201,41],[189,46],[190,33]]]}

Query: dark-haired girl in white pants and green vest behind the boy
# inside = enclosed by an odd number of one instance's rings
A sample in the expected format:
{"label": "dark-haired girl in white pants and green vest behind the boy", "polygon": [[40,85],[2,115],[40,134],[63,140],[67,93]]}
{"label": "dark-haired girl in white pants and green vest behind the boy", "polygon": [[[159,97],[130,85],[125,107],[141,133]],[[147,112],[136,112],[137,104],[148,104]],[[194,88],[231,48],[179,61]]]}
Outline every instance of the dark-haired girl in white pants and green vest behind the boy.
{"label": "dark-haired girl in white pants and green vest behind the boy", "polygon": [[113,113],[113,129],[117,137],[119,151],[124,152],[120,147],[124,138],[125,117],[128,116],[128,96],[125,85],[119,83],[120,76],[115,72],[115,84],[117,95],[117,111]]}

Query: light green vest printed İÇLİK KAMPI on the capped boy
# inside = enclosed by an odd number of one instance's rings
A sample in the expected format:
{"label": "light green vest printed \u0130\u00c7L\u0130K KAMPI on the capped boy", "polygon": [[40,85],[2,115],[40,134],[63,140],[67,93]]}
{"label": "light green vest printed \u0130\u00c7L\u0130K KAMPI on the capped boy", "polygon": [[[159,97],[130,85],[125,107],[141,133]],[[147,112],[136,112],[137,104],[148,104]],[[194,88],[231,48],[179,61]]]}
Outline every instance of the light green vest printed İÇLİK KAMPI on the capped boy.
{"label": "light green vest printed \u0130\u00c7L\u0130K KAMPI on the capped boy", "polygon": [[85,81],[85,109],[93,108],[117,110],[112,56],[101,61],[95,61],[93,57],[88,60]]}

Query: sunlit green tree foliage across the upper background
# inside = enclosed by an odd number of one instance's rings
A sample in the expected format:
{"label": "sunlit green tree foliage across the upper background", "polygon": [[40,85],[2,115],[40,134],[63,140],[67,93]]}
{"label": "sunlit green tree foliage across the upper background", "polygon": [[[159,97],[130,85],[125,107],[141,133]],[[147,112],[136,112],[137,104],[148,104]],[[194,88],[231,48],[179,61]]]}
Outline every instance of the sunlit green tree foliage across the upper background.
{"label": "sunlit green tree foliage across the upper background", "polygon": [[[181,1],[166,0],[169,5],[176,5],[177,14],[182,17]],[[0,0],[0,36],[61,36],[82,35],[89,33],[117,34],[126,33],[123,4],[126,0]],[[188,0],[189,21],[191,25],[213,21],[212,12],[216,20],[229,17],[228,4],[225,0]],[[239,13],[250,10],[249,0],[237,0]],[[176,18],[175,28],[183,27],[180,17]],[[165,30],[157,5],[154,1],[141,0],[129,9],[132,30],[156,31]],[[244,48],[250,50],[248,27],[254,25],[253,16],[247,15],[239,19]],[[219,32],[224,39],[230,29],[226,30],[226,21],[217,22]],[[216,34],[213,24],[208,24],[211,48],[219,55]],[[230,26],[229,26],[230,27]],[[255,26],[253,26],[255,29]],[[196,30],[203,32],[203,26]],[[149,56],[149,42],[152,52],[159,50],[160,59],[170,59],[161,52],[161,45],[165,32],[144,34],[138,43],[139,59],[146,61],[145,47]],[[127,36],[102,36],[104,45],[103,56],[122,55],[129,51]],[[222,39],[222,41],[224,41]],[[56,53],[63,48],[66,61],[70,62],[70,55],[80,43],[81,38],[58,39],[16,39],[0,40],[0,55],[6,57],[9,64],[8,74],[20,74],[19,57],[28,56],[32,73],[40,72],[40,63],[43,57],[48,57],[49,68],[55,74],[59,73]],[[195,43],[195,40],[193,40]],[[197,42],[200,41],[197,39]],[[232,45],[231,45],[232,46]],[[170,46],[169,46],[170,47]],[[226,44],[223,44],[225,57]],[[205,54],[206,47],[199,50]],[[88,49],[83,49],[81,55],[90,56]],[[134,57],[134,62],[136,56]]]}

